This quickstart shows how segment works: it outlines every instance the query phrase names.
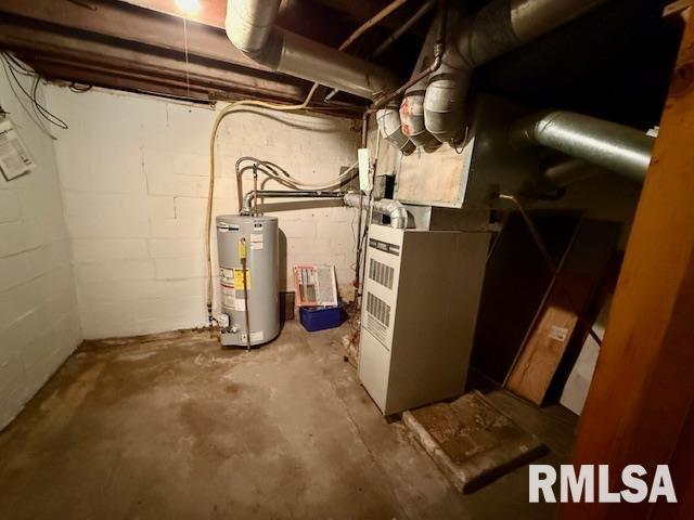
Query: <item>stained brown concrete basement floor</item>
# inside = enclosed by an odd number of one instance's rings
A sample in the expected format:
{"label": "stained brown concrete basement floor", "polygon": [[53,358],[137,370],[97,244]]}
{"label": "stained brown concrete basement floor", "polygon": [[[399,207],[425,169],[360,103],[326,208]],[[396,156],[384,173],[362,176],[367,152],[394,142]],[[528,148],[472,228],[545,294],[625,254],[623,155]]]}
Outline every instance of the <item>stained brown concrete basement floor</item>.
{"label": "stained brown concrete basement floor", "polygon": [[[527,468],[462,496],[295,322],[249,353],[207,334],[86,344],[0,433],[1,519],[553,518]],[[489,398],[568,453],[574,419]],[[562,412],[563,411],[563,412]]]}

